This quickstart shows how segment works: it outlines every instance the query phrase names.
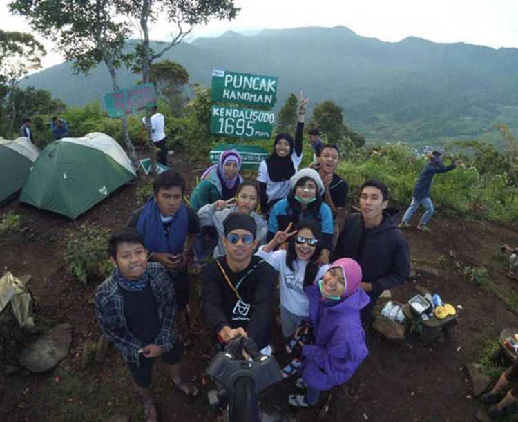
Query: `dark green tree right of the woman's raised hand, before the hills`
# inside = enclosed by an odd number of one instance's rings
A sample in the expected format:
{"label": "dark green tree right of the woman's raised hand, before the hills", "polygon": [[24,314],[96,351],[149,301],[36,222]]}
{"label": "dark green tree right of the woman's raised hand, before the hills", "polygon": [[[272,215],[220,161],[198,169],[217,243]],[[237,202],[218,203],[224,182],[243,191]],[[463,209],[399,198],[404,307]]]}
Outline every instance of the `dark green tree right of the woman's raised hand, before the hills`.
{"label": "dark green tree right of the woman's raised hand, before the hills", "polygon": [[345,126],[343,108],[329,99],[314,106],[309,126],[318,128],[320,132],[325,133],[329,142],[345,144],[352,142],[356,148],[365,145],[365,137]]}

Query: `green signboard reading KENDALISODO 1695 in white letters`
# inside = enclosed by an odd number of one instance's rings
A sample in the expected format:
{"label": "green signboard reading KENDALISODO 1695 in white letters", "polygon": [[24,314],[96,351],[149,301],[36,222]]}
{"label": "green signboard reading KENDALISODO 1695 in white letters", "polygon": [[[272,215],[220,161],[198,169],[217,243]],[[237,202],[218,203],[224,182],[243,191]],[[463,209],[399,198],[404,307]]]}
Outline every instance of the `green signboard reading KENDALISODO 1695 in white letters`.
{"label": "green signboard reading KENDALISODO 1695 in white letters", "polygon": [[274,120],[275,115],[271,111],[226,106],[211,107],[211,133],[218,135],[266,140],[271,137]]}

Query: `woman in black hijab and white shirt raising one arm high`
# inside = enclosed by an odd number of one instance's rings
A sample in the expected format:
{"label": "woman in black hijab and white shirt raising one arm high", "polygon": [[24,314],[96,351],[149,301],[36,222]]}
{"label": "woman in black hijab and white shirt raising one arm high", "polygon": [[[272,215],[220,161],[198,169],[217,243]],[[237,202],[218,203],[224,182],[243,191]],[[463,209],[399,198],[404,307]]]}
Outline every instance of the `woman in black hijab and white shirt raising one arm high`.
{"label": "woman in black hijab and white shirt raising one arm high", "polygon": [[309,97],[300,93],[295,142],[289,133],[278,133],[274,141],[274,151],[261,162],[257,180],[260,189],[261,212],[268,215],[271,207],[289,191],[289,179],[298,171],[303,158],[304,115]]}

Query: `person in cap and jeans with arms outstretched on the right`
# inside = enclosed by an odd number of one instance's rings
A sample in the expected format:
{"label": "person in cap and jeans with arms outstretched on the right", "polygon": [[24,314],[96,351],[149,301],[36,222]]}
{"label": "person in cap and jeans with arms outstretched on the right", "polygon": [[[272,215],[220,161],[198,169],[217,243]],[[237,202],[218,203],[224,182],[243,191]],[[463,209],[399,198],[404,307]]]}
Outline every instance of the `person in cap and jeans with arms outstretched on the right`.
{"label": "person in cap and jeans with arms outstretched on the right", "polygon": [[421,175],[419,176],[419,179],[414,186],[414,190],[412,191],[412,203],[410,204],[410,207],[408,207],[405,215],[403,215],[403,219],[399,223],[400,229],[408,229],[411,227],[409,224],[410,218],[412,218],[412,215],[414,215],[414,212],[416,212],[419,204],[423,204],[426,212],[421,217],[421,220],[419,220],[417,229],[424,232],[430,231],[427,224],[430,218],[432,218],[432,215],[434,215],[434,204],[430,199],[430,187],[432,186],[432,179],[437,173],[446,173],[447,171],[451,171],[461,164],[461,161],[457,160],[449,166],[445,166],[443,164],[443,156],[441,153],[439,153],[439,151],[428,151],[427,156],[430,159],[430,162],[425,164],[423,170],[421,171]]}

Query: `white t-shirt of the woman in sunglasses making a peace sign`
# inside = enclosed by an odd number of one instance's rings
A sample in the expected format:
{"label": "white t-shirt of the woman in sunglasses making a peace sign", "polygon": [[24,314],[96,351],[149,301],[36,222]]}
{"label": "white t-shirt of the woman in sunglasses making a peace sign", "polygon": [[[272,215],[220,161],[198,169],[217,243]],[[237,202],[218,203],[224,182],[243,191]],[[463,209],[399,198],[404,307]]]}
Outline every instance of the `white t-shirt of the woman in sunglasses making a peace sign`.
{"label": "white t-shirt of the woman in sunglasses making a peace sign", "polygon": [[[296,259],[293,263],[295,271],[291,271],[286,265],[286,251],[275,251],[266,253],[264,247],[260,247],[256,252],[266,262],[269,263],[276,271],[279,272],[280,287],[280,305],[285,307],[291,314],[298,316],[309,315],[309,300],[304,292],[304,274],[308,261]],[[318,269],[314,282],[320,280],[325,274],[329,265],[322,265]]]}

